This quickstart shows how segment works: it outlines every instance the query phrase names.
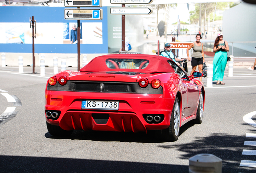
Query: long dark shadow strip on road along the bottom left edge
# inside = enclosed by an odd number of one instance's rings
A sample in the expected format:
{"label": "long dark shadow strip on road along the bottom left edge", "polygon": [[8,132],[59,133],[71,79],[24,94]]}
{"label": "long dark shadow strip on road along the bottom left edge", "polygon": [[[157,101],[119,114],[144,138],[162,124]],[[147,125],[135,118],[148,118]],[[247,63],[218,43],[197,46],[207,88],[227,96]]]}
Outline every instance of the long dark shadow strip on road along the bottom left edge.
{"label": "long dark shadow strip on road along the bottom left edge", "polygon": [[188,166],[52,157],[0,156],[1,173],[187,173]]}

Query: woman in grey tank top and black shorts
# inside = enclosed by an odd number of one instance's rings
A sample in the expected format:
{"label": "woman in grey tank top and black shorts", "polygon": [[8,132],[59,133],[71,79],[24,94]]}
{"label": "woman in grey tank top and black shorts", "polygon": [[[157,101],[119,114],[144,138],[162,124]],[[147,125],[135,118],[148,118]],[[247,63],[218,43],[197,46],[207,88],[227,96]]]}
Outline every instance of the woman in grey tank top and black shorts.
{"label": "woman in grey tank top and black shorts", "polygon": [[[201,34],[196,34],[196,41],[190,44],[187,48],[187,55],[189,61],[190,57],[188,50],[193,48],[193,54],[191,59],[192,71],[190,75],[192,75],[192,73],[196,71],[196,66],[198,66],[199,72],[202,72],[202,67],[204,64],[204,45],[200,42],[200,39],[202,39]],[[202,77],[200,77],[199,79],[202,82]]]}

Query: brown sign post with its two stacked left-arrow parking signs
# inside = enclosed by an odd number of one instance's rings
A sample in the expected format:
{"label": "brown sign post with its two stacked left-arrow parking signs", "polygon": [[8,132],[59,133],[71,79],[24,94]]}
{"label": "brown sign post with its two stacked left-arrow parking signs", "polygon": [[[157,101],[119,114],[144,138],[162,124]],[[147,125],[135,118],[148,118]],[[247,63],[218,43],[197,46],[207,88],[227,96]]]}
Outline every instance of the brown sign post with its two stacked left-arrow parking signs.
{"label": "brown sign post with its two stacked left-arrow parking signs", "polygon": [[102,9],[80,9],[80,7],[101,7],[102,0],[65,0],[64,6],[77,9],[64,9],[65,19],[77,20],[77,71],[80,70],[80,20],[101,20]]}

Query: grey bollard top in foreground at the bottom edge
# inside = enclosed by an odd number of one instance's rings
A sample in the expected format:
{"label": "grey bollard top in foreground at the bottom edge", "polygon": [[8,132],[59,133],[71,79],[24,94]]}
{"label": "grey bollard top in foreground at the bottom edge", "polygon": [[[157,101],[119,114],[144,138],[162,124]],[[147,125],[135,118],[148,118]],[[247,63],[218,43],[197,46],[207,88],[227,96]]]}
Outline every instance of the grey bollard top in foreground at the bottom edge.
{"label": "grey bollard top in foreground at the bottom edge", "polygon": [[212,154],[198,154],[189,159],[189,173],[221,173],[222,160]]}

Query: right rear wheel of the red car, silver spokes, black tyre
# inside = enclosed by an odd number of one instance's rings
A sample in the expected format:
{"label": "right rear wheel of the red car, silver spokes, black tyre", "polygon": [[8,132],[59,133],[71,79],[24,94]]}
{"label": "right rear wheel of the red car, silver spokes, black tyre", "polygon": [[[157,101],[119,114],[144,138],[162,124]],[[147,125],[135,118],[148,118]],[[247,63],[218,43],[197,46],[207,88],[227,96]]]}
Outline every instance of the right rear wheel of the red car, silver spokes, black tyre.
{"label": "right rear wheel of the red car, silver spokes, black tyre", "polygon": [[180,133],[180,101],[175,99],[171,111],[170,126],[162,130],[162,135],[167,141],[177,141]]}

